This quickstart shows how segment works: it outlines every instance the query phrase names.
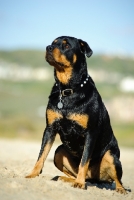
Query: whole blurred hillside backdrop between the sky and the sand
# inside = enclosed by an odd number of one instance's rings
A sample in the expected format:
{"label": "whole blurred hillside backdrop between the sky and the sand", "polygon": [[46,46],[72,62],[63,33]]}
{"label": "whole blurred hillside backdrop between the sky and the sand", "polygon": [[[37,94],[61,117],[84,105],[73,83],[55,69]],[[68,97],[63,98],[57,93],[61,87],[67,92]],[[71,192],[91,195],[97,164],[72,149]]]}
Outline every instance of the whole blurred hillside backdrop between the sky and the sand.
{"label": "whole blurred hillside backdrop between the sky and the sand", "polygon": [[[134,58],[93,55],[87,64],[119,144],[134,147]],[[0,137],[41,140],[53,83],[44,51],[0,51]]]}

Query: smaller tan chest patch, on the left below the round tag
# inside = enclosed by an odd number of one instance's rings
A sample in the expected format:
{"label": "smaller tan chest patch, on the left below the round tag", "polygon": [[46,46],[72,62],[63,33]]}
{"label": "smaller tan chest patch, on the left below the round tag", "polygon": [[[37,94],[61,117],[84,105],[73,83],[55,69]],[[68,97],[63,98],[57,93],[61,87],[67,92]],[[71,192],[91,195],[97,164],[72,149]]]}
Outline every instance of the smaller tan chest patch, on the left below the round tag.
{"label": "smaller tan chest patch, on the left below the round tag", "polygon": [[57,112],[57,111],[53,111],[51,109],[47,110],[47,119],[48,119],[48,124],[51,125],[53,122],[55,122],[55,120],[58,119],[62,119],[63,116]]}

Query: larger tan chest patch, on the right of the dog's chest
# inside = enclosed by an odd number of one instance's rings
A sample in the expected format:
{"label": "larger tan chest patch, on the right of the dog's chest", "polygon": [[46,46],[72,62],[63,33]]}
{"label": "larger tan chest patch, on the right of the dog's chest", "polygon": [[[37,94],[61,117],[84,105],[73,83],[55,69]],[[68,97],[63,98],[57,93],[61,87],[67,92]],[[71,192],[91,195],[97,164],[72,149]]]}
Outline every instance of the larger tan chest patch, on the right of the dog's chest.
{"label": "larger tan chest patch, on the right of the dog's chest", "polygon": [[73,114],[69,114],[67,118],[70,120],[76,121],[83,128],[87,128],[88,119],[89,119],[88,115],[73,113]]}

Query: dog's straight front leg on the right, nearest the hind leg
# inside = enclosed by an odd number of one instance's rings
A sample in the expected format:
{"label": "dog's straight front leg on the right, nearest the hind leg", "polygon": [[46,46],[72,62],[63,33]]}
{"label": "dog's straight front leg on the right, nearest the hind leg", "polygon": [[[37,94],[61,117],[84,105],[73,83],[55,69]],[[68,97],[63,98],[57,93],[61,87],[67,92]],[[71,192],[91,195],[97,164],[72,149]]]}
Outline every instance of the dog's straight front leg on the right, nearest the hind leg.
{"label": "dog's straight front leg on the right, nearest the hind leg", "polygon": [[73,187],[85,189],[85,179],[93,151],[93,146],[94,146],[93,144],[94,143],[90,138],[90,134],[87,133],[85,137],[85,145],[78,169],[77,178],[75,179],[75,182],[72,185]]}

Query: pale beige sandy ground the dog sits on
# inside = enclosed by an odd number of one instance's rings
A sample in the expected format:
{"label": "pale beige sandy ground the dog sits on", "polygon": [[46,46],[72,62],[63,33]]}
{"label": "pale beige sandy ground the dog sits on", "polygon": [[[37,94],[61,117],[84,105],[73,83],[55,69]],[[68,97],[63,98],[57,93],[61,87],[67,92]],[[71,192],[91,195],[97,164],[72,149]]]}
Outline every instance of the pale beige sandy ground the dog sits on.
{"label": "pale beige sandy ground the dog sits on", "polygon": [[33,168],[40,143],[18,140],[0,140],[0,199],[1,200],[113,200],[134,199],[134,149],[121,148],[123,184],[127,195],[114,191],[114,183],[91,184],[87,189],[75,189],[68,183],[52,180],[63,175],[52,160],[58,144],[54,144],[45,162],[43,173],[34,179],[24,178]]}

